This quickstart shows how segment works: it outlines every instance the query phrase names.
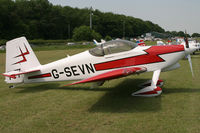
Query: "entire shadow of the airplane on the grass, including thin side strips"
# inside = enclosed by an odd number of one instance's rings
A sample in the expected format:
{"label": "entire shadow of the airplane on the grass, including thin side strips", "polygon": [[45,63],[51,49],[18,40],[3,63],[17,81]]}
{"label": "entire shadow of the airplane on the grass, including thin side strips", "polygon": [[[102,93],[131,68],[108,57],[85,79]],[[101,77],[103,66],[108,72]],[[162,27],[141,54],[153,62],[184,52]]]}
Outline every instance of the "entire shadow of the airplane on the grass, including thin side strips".
{"label": "entire shadow of the airplane on the grass, including thin side strips", "polygon": [[[50,89],[64,89],[64,90],[85,90],[85,91],[105,91],[106,93],[99,98],[99,100],[91,105],[89,112],[157,112],[161,110],[162,97],[133,97],[131,93],[139,89],[138,85],[145,82],[146,79],[126,79],[112,88],[95,88],[88,87],[60,87],[59,83],[40,84],[38,86],[20,87],[18,93],[34,93]],[[186,88],[163,88],[165,95],[170,93],[199,93],[200,89],[186,89]]]}

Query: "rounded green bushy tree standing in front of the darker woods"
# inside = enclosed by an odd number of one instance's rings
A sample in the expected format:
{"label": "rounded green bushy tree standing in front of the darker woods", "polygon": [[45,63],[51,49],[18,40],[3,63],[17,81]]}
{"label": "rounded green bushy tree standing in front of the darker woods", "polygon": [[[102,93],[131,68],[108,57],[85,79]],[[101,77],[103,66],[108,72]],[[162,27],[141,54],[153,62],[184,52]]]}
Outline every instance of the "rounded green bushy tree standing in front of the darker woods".
{"label": "rounded green bushy tree standing in front of the darker woods", "polygon": [[74,29],[72,38],[75,41],[92,41],[93,39],[100,40],[101,35],[90,29],[89,26],[80,26]]}

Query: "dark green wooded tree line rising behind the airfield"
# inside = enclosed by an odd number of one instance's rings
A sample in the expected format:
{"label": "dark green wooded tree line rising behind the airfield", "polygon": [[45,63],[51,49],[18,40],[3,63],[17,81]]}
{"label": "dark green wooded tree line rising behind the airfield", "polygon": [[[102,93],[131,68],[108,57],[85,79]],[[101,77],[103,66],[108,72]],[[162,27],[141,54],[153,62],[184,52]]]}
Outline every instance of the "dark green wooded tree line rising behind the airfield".
{"label": "dark green wooded tree line rising behind the airfield", "polygon": [[[90,8],[63,7],[48,0],[0,0],[0,39],[71,39],[75,29],[89,26],[90,12]],[[99,10],[92,14],[92,29],[103,38],[165,32],[159,25],[139,18]]]}

